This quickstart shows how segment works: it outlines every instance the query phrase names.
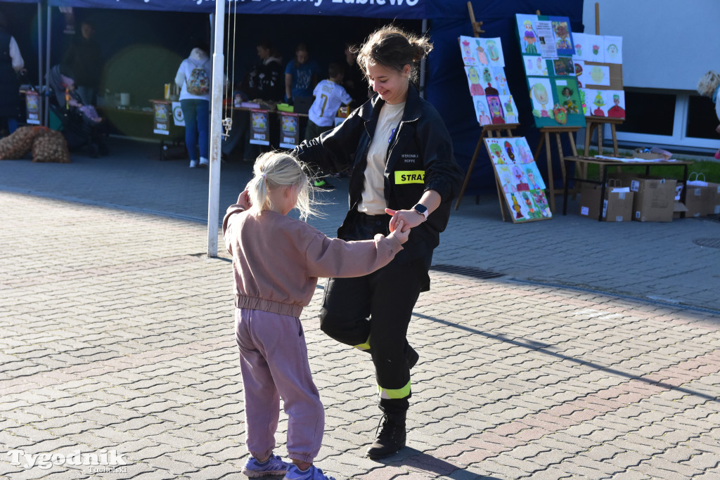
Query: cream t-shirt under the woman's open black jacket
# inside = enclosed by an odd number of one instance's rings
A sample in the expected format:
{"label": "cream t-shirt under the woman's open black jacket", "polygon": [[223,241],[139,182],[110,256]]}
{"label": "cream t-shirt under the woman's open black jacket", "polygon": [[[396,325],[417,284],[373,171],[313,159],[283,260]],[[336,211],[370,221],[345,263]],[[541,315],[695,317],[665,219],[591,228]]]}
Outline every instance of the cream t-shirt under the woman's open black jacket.
{"label": "cream t-shirt under the woman's open black jacket", "polygon": [[405,102],[401,104],[383,104],[380,116],[377,119],[375,135],[372,137],[367,152],[367,166],[365,167],[365,180],[363,184],[362,199],[358,204],[358,212],[369,215],[385,213],[385,163],[387,163],[387,148],[395,140],[397,127],[400,126],[402,112],[405,111]]}

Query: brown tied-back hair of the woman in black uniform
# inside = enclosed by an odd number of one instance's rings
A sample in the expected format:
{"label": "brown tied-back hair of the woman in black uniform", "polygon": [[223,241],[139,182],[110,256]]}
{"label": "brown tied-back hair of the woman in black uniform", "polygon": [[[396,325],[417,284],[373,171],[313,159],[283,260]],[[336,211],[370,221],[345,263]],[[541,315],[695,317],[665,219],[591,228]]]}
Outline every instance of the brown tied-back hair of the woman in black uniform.
{"label": "brown tied-back hair of the woman in black uniform", "polygon": [[420,60],[433,50],[427,37],[418,37],[395,25],[386,25],[367,37],[358,52],[357,62],[367,75],[369,65],[382,65],[402,71],[410,65],[410,81],[416,81]]}

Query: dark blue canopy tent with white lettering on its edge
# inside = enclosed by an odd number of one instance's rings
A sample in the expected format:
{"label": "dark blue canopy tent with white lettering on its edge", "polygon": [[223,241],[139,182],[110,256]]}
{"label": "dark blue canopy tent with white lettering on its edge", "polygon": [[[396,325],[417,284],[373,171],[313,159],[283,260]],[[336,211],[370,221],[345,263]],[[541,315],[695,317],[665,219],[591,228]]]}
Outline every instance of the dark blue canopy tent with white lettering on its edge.
{"label": "dark blue canopy tent with white lettering on its edge", "polygon": [[[516,99],[521,122],[516,135],[526,136],[531,146],[536,145],[539,132],[534,127],[531,115],[514,15],[540,10],[542,14],[570,17],[572,30],[582,31],[582,1],[474,0],[472,4],[476,19],[483,22],[482,28],[486,32],[483,36],[502,39],[505,73]],[[214,0],[48,0],[48,8],[49,6],[202,14],[212,14],[215,11]],[[467,168],[481,132],[467,91],[467,80],[457,42],[460,35],[472,35],[467,0],[240,0],[237,3],[229,1],[228,6],[230,13],[237,12],[238,15],[292,15],[294,22],[300,22],[296,15],[389,19],[388,21],[427,20],[428,34],[435,50],[427,63],[424,94],[444,118],[454,142],[456,158],[461,166]],[[310,17],[305,19],[308,23],[315,21]],[[307,39],[325,34],[323,30],[307,30]],[[282,32],[282,29],[277,31]],[[485,155],[482,150],[467,194],[495,189],[490,161],[483,161],[483,158],[487,158]],[[544,161],[539,161],[538,165],[541,169],[544,168]],[[559,168],[554,168],[554,171],[559,172]]]}

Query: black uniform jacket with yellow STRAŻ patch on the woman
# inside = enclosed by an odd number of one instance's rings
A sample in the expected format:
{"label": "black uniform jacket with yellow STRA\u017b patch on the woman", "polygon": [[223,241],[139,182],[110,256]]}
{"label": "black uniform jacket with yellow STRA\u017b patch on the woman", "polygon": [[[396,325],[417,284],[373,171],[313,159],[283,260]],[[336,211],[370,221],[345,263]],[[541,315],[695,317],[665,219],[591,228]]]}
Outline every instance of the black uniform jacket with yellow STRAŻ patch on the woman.
{"label": "black uniform jacket with yellow STRA\u017b patch on the woman", "polygon": [[[384,101],[376,94],[354,110],[341,125],[318,138],[305,140],[294,150],[300,160],[323,171],[338,172],[352,168],[350,209],[338,229],[340,238],[347,238],[346,233],[358,217],[357,206],[362,198],[367,152],[382,104]],[[434,190],[441,196],[440,206],[426,222],[413,228],[408,243],[403,245],[405,250],[401,252],[409,255],[410,259],[429,256],[440,241],[440,232],[445,230],[451,201],[459,192],[463,173],[455,161],[452,141],[440,114],[430,102],[420,98],[418,89],[412,83],[400,126],[385,141],[388,142],[384,172],[387,207],[411,209],[426,190]]]}

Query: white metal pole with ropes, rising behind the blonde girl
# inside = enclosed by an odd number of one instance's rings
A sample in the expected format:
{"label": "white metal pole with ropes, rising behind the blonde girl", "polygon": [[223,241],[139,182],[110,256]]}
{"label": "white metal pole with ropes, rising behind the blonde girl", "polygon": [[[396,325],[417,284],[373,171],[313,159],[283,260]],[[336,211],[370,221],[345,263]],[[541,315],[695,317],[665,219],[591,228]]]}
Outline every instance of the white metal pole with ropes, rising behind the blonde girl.
{"label": "white metal pole with ropes, rising behind the blonde girl", "polygon": [[217,257],[217,224],[220,209],[220,138],[222,137],[222,44],[225,37],[225,0],[215,1],[215,52],[212,54],[210,89],[210,185],[207,196],[207,256]]}

